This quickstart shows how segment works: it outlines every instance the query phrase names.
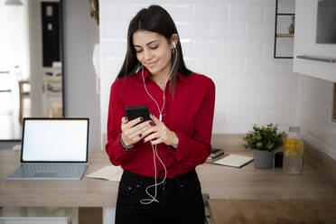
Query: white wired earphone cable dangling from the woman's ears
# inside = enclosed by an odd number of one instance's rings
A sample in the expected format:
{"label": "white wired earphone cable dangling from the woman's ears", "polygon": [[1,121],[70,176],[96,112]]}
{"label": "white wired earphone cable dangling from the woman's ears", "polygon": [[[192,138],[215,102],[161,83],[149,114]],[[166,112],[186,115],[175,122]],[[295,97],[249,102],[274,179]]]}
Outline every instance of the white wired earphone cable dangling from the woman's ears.
{"label": "white wired earphone cable dangling from the woman's ears", "polygon": [[[174,42],[173,42],[173,47],[174,47],[174,49],[175,49],[175,51],[176,51],[176,54],[175,54],[175,61],[173,62],[173,67],[174,67],[175,64],[176,64],[176,61],[177,61],[177,48],[176,48]],[[159,110],[159,113],[160,113],[160,121],[162,121],[162,112],[163,112],[164,103],[165,103],[165,87],[166,87],[166,85],[167,85],[167,81],[168,81],[168,79],[169,79],[170,76],[172,75],[173,67],[172,67],[172,70],[171,70],[171,72],[169,73],[167,79],[165,79],[165,82],[164,82],[164,88],[163,88],[163,107],[162,107],[161,109],[160,109],[158,103],[156,102],[156,100],[152,97],[152,95],[149,93],[148,89],[145,87],[144,66],[142,66],[142,70],[141,70],[141,75],[142,75],[143,80],[144,80],[145,91],[147,92],[147,95],[148,95],[150,98],[152,98],[153,101],[154,101],[154,103],[156,104],[156,107],[157,107],[157,109]],[[145,192],[147,193],[147,195],[148,195],[151,199],[142,199],[142,200],[140,200],[140,203],[142,203],[142,204],[150,204],[150,203],[152,203],[153,201],[155,201],[155,202],[159,202],[159,201],[156,200],[157,186],[159,186],[160,184],[162,184],[162,183],[165,181],[166,177],[167,177],[167,168],[165,167],[165,165],[164,165],[163,161],[161,160],[159,154],[157,154],[156,146],[157,146],[157,145],[155,145],[155,146],[152,145],[152,149],[153,149],[153,161],[154,161],[154,184],[148,186],[148,187],[145,189]],[[157,183],[157,177],[156,177],[156,176],[157,176],[157,174],[156,174],[157,172],[156,172],[155,155],[156,155],[156,157],[159,159],[160,163],[163,164],[163,168],[164,168],[164,177],[163,177],[163,180],[162,180],[161,182],[159,182],[159,183]],[[149,190],[150,188],[153,188],[153,187],[155,188],[155,189],[154,189],[154,196],[153,196],[150,192],[148,192],[148,190]]]}

